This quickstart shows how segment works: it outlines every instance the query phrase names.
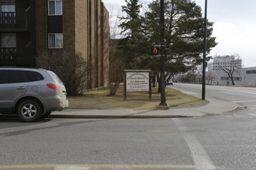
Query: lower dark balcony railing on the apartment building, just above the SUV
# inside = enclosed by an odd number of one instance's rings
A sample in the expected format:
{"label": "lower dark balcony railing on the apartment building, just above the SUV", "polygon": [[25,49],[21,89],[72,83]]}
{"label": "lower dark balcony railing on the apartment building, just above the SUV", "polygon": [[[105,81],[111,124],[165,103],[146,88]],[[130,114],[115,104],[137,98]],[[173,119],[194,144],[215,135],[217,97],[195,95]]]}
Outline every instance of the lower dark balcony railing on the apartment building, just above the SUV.
{"label": "lower dark balcony railing on the apartment building, just above the SUV", "polygon": [[29,49],[17,49],[13,47],[0,48],[0,65],[29,65],[31,54]]}

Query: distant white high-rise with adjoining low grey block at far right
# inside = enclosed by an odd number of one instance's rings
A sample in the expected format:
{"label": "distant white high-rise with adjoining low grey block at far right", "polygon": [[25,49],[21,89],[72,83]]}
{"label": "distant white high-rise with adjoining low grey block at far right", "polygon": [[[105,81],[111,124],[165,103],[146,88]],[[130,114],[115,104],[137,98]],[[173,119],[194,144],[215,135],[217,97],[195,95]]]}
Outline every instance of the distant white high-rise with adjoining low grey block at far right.
{"label": "distant white high-rise with adjoining low grey block at far right", "polygon": [[242,68],[242,59],[234,56],[216,56],[213,63],[208,63],[206,83],[213,85],[230,85],[230,77],[223,71],[224,68],[234,70],[234,83],[236,85],[256,86],[256,67]]}

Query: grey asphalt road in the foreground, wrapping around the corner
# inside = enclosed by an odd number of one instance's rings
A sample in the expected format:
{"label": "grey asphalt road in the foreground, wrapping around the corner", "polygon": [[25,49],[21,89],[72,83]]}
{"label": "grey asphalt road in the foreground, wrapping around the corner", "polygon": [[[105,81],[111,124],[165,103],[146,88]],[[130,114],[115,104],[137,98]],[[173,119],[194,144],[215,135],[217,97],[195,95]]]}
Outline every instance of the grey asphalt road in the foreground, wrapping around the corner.
{"label": "grey asphalt road in the foreground, wrapping around the corner", "polygon": [[[200,95],[200,86],[177,83]],[[223,169],[256,167],[254,88],[206,87],[245,107],[175,119],[0,119],[0,169]]]}

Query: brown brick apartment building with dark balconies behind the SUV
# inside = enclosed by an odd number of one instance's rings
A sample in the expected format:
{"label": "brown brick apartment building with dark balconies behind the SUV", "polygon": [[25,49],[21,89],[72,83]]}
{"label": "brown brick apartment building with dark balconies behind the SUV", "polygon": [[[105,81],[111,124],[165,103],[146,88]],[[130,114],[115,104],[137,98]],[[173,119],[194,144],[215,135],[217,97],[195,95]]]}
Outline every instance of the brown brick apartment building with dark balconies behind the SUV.
{"label": "brown brick apartment building with dark balconies behind the SUV", "polygon": [[80,53],[88,88],[109,81],[109,12],[101,0],[0,0],[0,66],[36,66],[36,57]]}

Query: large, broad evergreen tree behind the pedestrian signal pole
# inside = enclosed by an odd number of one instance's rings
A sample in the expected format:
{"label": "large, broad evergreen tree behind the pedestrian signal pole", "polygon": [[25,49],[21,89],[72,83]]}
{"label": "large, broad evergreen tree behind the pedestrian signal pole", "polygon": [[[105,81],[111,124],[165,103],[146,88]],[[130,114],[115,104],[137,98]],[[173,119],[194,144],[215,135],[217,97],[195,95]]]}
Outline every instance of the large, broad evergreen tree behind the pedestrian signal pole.
{"label": "large, broad evergreen tree behind the pedestrian signal pole", "polygon": [[[147,39],[160,44],[160,2],[148,5],[144,16]],[[202,63],[203,25],[202,9],[190,0],[170,0],[164,3],[164,35],[166,39],[166,80],[175,73],[186,72]],[[207,52],[216,46],[212,37],[213,22],[207,22]],[[159,64],[159,62],[155,62]],[[152,63],[150,63],[152,66]],[[158,65],[160,66],[160,65]]]}

